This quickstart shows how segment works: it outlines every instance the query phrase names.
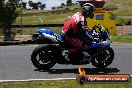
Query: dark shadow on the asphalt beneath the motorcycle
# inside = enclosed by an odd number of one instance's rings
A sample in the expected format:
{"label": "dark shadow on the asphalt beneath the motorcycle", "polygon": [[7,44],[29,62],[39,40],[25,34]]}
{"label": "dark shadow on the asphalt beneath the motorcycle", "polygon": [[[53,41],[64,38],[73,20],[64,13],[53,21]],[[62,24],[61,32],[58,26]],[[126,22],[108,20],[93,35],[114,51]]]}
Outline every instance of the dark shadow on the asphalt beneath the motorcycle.
{"label": "dark shadow on the asphalt beneath the motorcycle", "polygon": [[[118,73],[120,70],[117,68],[83,68],[86,74],[115,74]],[[74,73],[78,74],[78,68],[74,69],[50,69],[49,71],[43,71],[36,69],[35,71],[39,72],[48,72],[49,74],[63,74],[63,73]]]}

